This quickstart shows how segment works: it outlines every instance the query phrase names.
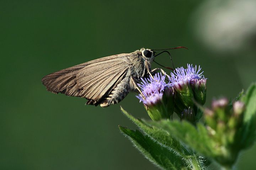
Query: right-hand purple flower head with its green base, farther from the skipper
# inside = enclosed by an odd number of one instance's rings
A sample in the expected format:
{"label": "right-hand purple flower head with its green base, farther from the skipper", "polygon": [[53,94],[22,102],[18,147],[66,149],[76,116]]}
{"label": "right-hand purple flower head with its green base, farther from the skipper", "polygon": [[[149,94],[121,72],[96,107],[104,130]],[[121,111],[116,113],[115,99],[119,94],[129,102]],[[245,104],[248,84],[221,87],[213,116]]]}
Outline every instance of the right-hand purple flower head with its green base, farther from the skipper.
{"label": "right-hand purple flower head with its green base, farther from the skipper", "polygon": [[[197,115],[196,104],[203,105],[206,102],[206,78],[201,72],[200,66],[193,67],[187,64],[187,68],[176,68],[169,77],[171,85],[176,91],[175,112],[181,117],[184,109],[193,108]],[[196,104],[195,104],[196,103]]]}

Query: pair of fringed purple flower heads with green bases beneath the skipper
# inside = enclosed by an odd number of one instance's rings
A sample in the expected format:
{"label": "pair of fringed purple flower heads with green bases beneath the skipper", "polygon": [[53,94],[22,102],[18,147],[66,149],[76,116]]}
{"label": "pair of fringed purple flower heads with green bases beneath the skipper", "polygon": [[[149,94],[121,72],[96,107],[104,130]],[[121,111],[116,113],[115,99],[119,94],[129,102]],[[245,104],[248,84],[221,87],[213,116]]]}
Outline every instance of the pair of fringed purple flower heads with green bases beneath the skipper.
{"label": "pair of fringed purple flower heads with green bases beneath the skipper", "polygon": [[[166,77],[169,79],[169,83],[165,82]],[[196,104],[203,105],[206,101],[206,79],[200,66],[197,68],[192,64],[187,64],[186,69],[176,68],[170,76],[157,73],[153,78],[142,79],[142,83],[138,86],[142,89],[142,94],[137,97],[148,108],[148,113],[152,109],[160,110],[159,107],[165,105],[166,117],[158,116],[157,120],[170,118],[174,111],[181,119],[196,117],[198,112]],[[190,115],[188,116],[186,113]],[[152,115],[150,117],[152,119]],[[190,120],[196,121],[192,118]]]}

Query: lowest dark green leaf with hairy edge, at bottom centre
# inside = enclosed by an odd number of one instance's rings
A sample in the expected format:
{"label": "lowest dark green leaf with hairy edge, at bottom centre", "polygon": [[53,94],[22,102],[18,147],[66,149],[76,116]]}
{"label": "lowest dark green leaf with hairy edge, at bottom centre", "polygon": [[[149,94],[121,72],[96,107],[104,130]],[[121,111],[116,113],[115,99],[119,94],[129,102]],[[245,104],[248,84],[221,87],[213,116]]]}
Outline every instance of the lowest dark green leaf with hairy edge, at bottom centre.
{"label": "lowest dark green leaf with hairy edge, at bottom centre", "polygon": [[119,126],[119,129],[124,134],[128,135],[135,147],[159,168],[166,170],[179,170],[187,168],[187,166],[183,164],[180,157],[170,152],[169,149],[159,145],[159,143],[154,141],[152,138],[144,136],[140,131],[133,131],[128,128],[124,128],[123,126]]}

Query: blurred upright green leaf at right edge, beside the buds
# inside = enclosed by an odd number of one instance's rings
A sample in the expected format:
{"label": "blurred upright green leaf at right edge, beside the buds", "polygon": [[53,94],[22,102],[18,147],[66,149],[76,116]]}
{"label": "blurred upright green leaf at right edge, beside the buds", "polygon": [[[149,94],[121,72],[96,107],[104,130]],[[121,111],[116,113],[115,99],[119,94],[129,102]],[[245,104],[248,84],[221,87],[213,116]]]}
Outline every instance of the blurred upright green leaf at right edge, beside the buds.
{"label": "blurred upright green leaf at right edge, beside the buds", "polygon": [[241,145],[244,148],[250,147],[255,141],[256,132],[256,84],[252,84],[241,97],[241,101],[245,103],[246,110],[244,113],[243,130]]}

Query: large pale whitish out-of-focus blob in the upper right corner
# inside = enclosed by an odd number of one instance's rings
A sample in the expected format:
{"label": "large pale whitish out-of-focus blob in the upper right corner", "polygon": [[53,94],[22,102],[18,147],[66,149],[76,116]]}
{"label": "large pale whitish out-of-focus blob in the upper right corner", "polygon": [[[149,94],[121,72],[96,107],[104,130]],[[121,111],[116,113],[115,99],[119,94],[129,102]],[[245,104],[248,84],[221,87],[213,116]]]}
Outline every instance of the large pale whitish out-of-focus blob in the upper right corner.
{"label": "large pale whitish out-of-focus blob in the upper right corner", "polygon": [[213,50],[255,47],[256,0],[207,0],[193,21],[197,37]]}

